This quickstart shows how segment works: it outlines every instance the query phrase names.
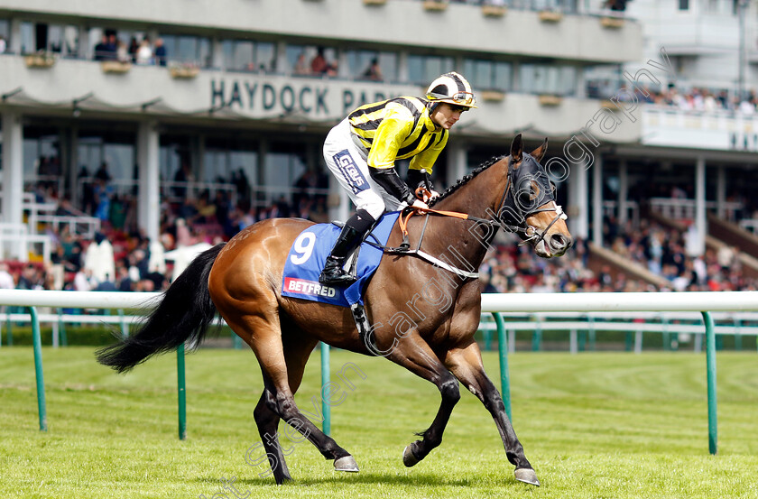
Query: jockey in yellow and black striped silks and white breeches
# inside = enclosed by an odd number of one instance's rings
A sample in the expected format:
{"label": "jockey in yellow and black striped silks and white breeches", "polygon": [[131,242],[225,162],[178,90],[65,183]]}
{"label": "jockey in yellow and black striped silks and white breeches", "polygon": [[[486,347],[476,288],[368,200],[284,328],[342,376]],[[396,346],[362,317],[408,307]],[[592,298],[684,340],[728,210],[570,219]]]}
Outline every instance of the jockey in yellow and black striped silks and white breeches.
{"label": "jockey in yellow and black striped silks and white breeches", "polygon": [[[449,72],[431,82],[425,98],[394,97],[366,104],[331,129],[324,159],[357,210],[337,237],[319,282],[355,281],[343,269],[345,259],[384,212],[405,206],[429,208],[414,191],[424,187],[430,199],[439,196],[430,181],[432,166],[448,143],[448,130],[475,103],[467,80]],[[406,159],[411,159],[408,184],[395,171],[395,161]]]}

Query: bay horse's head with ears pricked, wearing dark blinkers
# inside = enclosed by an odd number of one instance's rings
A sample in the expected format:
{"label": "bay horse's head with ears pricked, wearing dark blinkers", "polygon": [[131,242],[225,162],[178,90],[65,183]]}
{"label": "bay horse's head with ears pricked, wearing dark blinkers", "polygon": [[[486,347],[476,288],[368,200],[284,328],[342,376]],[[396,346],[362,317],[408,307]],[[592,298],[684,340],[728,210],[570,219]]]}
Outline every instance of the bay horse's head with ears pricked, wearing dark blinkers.
{"label": "bay horse's head with ears pricked, wearing dark blinkers", "polygon": [[543,258],[561,256],[571,246],[566,214],[555,202],[555,185],[540,162],[548,139],[532,153],[523,152],[521,134],[511,143],[508,187],[498,211],[500,222],[529,243]]}

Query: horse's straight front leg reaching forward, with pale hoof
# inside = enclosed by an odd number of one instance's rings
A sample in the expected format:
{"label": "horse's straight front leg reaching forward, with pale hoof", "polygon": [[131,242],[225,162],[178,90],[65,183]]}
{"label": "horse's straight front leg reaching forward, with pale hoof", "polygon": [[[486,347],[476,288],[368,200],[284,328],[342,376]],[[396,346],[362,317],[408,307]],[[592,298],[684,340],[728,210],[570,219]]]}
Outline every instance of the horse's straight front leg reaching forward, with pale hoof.
{"label": "horse's straight front leg reaching forward, with pale hoof", "polygon": [[505,413],[503,398],[485,373],[482,353],[476,341],[472,339],[465,346],[450,349],[445,357],[445,365],[471,393],[474,393],[485,404],[487,411],[492,414],[497,430],[500,432],[500,438],[503,439],[505,455],[516,467],[516,479],[527,484],[540,485],[537,474],[534,473],[532,465],[523,453],[522,444],[516,437],[516,432],[513,431],[511,420]]}

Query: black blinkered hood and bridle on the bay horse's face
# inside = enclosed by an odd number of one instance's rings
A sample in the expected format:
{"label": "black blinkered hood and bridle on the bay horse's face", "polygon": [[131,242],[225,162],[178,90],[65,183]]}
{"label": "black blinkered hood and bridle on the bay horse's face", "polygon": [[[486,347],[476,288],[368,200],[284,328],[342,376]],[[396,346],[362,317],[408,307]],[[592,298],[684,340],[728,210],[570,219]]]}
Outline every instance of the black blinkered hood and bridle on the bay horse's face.
{"label": "black blinkered hood and bridle on the bay horse's face", "polygon": [[[531,157],[528,154],[524,155],[524,158]],[[537,165],[540,165],[539,162],[536,160],[532,160]],[[523,162],[523,160],[522,160]],[[523,168],[523,166],[522,166]],[[533,168],[532,168],[533,170]],[[526,172],[527,175],[529,175],[531,172]],[[523,173],[520,173],[520,176]],[[547,179],[547,175],[541,171],[537,171],[535,174],[535,178],[533,180],[538,181],[538,183],[541,185],[541,196],[539,198],[539,201],[533,203],[537,206],[544,206],[547,203],[542,202],[547,200],[548,203],[551,203],[552,206],[550,208],[536,208],[532,210],[524,210],[521,209],[518,199],[516,198],[516,191],[513,188],[513,185],[516,183],[515,179],[515,173],[513,169],[513,163],[511,158],[508,158],[508,187],[505,188],[503,192],[503,198],[500,199],[499,206],[497,207],[497,219],[500,222],[499,225],[503,226],[504,230],[507,230],[508,232],[513,232],[517,236],[522,238],[522,242],[519,243],[520,246],[522,245],[538,245],[540,244],[540,241],[545,242],[545,236],[547,236],[548,231],[550,230],[550,227],[553,226],[556,222],[559,220],[566,220],[568,219],[568,216],[566,213],[564,213],[563,208],[560,207],[558,203],[555,202],[555,199],[552,196],[552,186],[550,185],[550,180]],[[513,208],[510,206],[505,206],[505,201],[508,198],[508,193],[511,193],[511,199],[513,199]],[[550,192],[550,194],[548,194]],[[546,199],[550,198],[550,199]],[[504,220],[504,213],[501,214],[502,210],[506,210],[509,214],[515,215],[513,217],[513,222],[508,223]],[[550,221],[550,224],[545,227],[544,230],[540,230],[535,226],[529,225],[526,220],[529,217],[532,217],[533,215],[536,215],[538,213],[542,213],[545,211],[555,211],[555,217]],[[547,242],[545,242],[547,244]]]}

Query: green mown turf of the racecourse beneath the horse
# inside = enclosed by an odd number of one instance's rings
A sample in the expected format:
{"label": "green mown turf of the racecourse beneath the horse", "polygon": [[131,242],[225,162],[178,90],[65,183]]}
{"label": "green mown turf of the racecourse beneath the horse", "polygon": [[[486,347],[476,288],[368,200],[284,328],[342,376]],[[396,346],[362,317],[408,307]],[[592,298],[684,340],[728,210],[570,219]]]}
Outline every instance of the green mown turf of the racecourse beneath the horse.
{"label": "green mown turf of the racecourse beneath the horse", "polygon": [[[439,393],[384,359],[332,353],[333,371],[354,362],[366,374],[351,376],[355,390],[332,408],[332,435],[361,472],[336,473],[308,442],[285,440],[295,481],[278,487],[245,463],[260,440],[252,412],[261,376],[252,353],[188,356],[185,441],[177,439],[175,356],[125,376],[97,365],[87,347],[46,348],[43,357],[46,433],[38,430],[31,348],[0,349],[3,497],[209,499],[222,491],[222,477],[233,476],[249,497],[758,497],[754,352],[718,355],[716,457],[707,451],[704,355],[511,356],[514,427],[539,488],[514,480],[494,422],[469,393],[442,445],[403,467],[402,449],[430,424]],[[318,397],[318,358],[298,393],[303,409]],[[485,364],[497,378],[496,356],[487,354]]]}

